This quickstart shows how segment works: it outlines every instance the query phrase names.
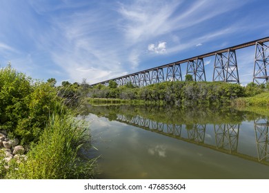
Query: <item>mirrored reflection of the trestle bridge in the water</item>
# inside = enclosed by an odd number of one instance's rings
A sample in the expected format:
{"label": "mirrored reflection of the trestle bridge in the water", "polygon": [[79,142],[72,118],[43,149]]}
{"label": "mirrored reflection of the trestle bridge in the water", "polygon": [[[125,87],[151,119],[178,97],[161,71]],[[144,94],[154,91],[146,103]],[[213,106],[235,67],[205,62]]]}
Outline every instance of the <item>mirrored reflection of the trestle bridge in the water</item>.
{"label": "mirrored reflection of the trestle bridge in the water", "polygon": [[188,143],[195,143],[212,150],[239,156],[243,159],[269,165],[269,121],[267,119],[257,119],[254,121],[258,157],[243,154],[237,150],[239,142],[239,123],[213,124],[215,145],[212,145],[205,141],[207,124],[168,124],[152,121],[150,119],[143,118],[142,116],[127,116],[123,114],[117,114],[117,121],[133,125],[144,130],[149,130],[151,132],[156,132],[158,134],[170,136]]}

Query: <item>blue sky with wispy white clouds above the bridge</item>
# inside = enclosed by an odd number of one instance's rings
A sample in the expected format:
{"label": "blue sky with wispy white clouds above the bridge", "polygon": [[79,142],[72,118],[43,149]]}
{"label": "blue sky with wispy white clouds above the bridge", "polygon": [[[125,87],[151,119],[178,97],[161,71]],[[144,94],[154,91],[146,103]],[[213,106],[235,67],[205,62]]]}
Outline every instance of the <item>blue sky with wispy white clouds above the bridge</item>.
{"label": "blue sky with wispy white clouds above the bridge", "polygon": [[[269,36],[269,1],[0,0],[0,66],[97,83]],[[237,50],[241,83],[255,47]],[[212,81],[214,57],[204,59]],[[182,65],[183,74],[186,65]]]}

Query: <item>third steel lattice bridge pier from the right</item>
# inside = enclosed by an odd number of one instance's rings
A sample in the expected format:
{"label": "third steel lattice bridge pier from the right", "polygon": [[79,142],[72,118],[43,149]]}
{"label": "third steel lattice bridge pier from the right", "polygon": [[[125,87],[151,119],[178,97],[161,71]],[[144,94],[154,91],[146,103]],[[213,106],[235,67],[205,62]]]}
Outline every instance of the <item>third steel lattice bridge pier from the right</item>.
{"label": "third steel lattice bridge pier from the right", "polygon": [[186,74],[191,74],[194,81],[206,81],[203,59],[189,60]]}

